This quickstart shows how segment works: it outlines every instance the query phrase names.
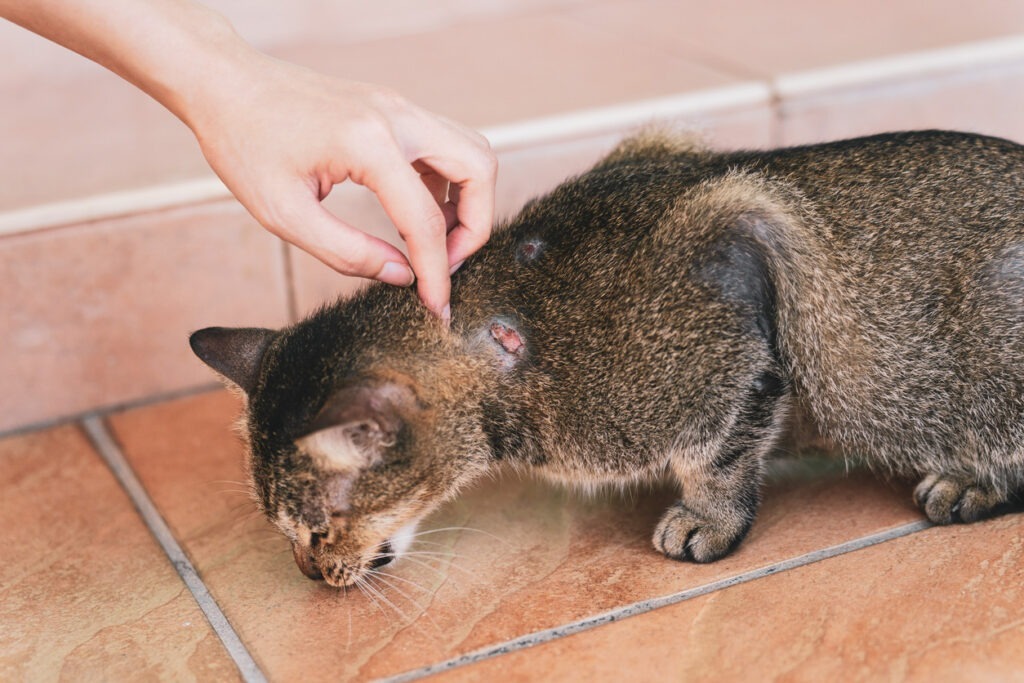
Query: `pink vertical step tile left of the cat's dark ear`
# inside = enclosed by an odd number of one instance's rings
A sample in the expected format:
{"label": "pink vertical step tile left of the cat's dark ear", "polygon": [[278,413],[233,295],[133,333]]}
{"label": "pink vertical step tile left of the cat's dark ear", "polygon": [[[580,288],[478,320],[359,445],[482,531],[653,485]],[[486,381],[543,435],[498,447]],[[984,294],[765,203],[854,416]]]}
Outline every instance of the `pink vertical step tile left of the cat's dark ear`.
{"label": "pink vertical step tile left of the cat's dark ear", "polygon": [[281,250],[226,202],[0,240],[0,430],[209,383],[188,334],[284,323]]}

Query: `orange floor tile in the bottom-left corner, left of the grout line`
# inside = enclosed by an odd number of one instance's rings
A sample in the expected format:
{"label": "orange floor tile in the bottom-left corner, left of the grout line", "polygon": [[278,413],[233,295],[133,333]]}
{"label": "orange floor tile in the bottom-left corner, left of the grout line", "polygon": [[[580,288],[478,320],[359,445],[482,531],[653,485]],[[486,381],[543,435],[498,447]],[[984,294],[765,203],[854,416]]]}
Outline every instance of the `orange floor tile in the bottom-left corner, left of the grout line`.
{"label": "orange floor tile in the bottom-left corner, left of the grout line", "polygon": [[237,680],[75,427],[0,440],[0,680]]}

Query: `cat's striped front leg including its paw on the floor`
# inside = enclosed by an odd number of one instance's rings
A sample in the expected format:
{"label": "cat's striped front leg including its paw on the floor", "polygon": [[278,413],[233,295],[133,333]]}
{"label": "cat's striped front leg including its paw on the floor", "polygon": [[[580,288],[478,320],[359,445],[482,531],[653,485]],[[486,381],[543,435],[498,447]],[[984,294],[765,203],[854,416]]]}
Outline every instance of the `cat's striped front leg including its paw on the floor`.
{"label": "cat's striped front leg including its paw on the floor", "polygon": [[782,429],[786,403],[784,382],[766,373],[717,442],[671,455],[682,496],[654,529],[656,550],[712,562],[743,540],[761,503],[762,461]]}

